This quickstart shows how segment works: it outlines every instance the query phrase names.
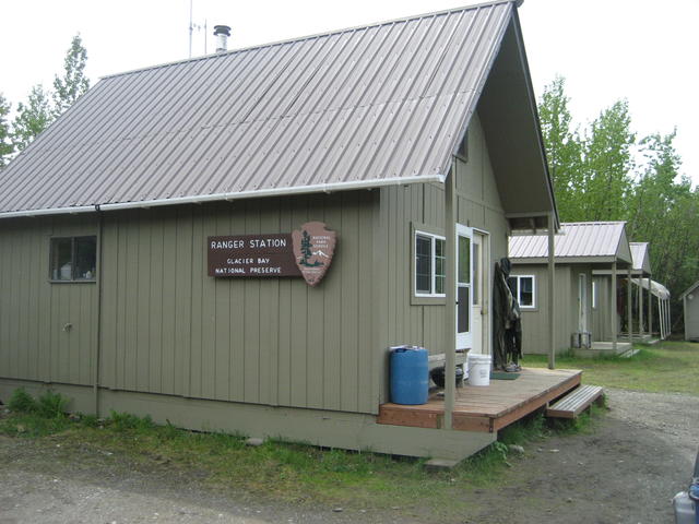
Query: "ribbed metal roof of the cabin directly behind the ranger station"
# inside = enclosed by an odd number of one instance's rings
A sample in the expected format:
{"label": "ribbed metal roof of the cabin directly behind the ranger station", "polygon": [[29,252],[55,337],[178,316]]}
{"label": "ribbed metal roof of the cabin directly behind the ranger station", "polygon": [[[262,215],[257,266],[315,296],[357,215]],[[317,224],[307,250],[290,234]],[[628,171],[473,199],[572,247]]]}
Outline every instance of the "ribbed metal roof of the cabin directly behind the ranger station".
{"label": "ribbed metal roof of the cabin directly behind the ranger station", "polygon": [[[626,239],[625,222],[569,222],[560,225],[555,236],[556,262],[631,262]],[[545,235],[516,235],[510,237],[509,257],[512,262],[544,261],[548,257],[548,237]]]}

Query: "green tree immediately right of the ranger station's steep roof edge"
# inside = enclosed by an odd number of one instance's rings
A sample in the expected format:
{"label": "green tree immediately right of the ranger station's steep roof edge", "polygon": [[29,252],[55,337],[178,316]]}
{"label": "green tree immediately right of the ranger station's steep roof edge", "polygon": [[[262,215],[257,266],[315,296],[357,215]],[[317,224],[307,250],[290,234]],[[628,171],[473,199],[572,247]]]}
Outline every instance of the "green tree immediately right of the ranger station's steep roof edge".
{"label": "green tree immediately right of the ranger station's steep roof edge", "polygon": [[578,131],[571,129],[570,98],[565,87],[562,76],[544,87],[538,115],[558,212],[566,221],[578,221],[582,216],[578,194],[582,181],[581,143]]}

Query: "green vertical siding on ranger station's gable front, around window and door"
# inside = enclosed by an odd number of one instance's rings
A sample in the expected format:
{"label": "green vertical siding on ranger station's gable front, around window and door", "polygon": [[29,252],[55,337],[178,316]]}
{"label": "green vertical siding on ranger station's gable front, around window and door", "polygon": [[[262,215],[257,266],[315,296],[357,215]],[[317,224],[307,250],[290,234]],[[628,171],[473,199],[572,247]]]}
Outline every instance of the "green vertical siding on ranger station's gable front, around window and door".
{"label": "green vertical siding on ranger station's gable front, around window and door", "polygon": [[[469,128],[469,157],[455,160],[459,223],[489,234],[490,263],[488,289],[493,288],[495,262],[507,255],[508,225],[499,199],[487,144],[475,115]],[[383,329],[377,335],[380,346],[416,344],[433,354],[445,353],[445,302],[422,305],[412,300],[413,226],[427,226],[434,230],[445,228],[445,192],[441,184],[388,187],[381,190],[378,217],[379,237],[386,241],[386,257],[379,262],[376,278],[384,302]],[[484,324],[489,330],[489,324]],[[484,348],[487,353],[489,348]],[[382,365],[384,362],[381,362]],[[386,368],[381,368],[386,369]],[[388,374],[381,377],[382,400],[388,395]]]}

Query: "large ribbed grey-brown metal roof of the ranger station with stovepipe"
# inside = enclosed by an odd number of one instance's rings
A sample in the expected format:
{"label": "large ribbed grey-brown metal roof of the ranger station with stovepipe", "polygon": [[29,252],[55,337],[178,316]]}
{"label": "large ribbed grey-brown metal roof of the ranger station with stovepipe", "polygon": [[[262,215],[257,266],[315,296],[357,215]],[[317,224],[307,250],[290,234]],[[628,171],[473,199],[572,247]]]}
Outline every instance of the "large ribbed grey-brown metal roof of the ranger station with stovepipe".
{"label": "large ribbed grey-brown metal roof of the ranger station with stovepipe", "polygon": [[497,1],[100,80],[0,178],[0,217],[443,181]]}

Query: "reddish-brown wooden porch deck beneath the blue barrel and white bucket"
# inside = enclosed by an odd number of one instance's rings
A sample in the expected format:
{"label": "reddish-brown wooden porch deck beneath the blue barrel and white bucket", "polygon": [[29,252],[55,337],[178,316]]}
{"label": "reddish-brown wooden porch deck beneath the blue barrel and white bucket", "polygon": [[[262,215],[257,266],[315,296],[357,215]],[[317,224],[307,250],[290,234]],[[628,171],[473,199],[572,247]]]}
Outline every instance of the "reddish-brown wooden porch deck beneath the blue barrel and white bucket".
{"label": "reddish-brown wooden porch deck beneath the blue barrel and white bucket", "polygon": [[[490,380],[490,385],[457,389],[453,429],[494,432],[545,407],[580,384],[582,371],[524,368],[517,380]],[[382,404],[378,424],[438,429],[443,426],[445,401],[430,395],[427,404]]]}

